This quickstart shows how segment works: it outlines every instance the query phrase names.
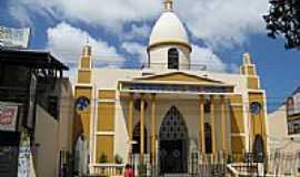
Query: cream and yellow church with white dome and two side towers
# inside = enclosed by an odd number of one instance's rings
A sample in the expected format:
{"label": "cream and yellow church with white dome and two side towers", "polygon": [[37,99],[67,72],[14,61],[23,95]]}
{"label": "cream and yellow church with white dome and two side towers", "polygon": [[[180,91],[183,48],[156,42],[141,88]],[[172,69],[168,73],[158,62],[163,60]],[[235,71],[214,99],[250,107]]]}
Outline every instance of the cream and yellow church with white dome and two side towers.
{"label": "cream and yellow church with white dome and two side towers", "polygon": [[239,73],[193,69],[192,45],[172,6],[164,1],[142,69],[93,67],[92,49],[83,48],[73,138],[86,144],[90,174],[133,155],[162,174],[184,174],[194,152],[267,153],[266,92],[250,54],[241,56]]}

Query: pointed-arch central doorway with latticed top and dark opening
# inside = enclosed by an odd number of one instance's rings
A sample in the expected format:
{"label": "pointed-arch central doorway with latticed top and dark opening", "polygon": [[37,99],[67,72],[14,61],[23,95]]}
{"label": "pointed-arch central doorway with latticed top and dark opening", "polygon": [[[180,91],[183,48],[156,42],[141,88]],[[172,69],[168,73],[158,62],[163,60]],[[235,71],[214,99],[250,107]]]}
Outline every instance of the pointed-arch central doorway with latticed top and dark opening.
{"label": "pointed-arch central doorway with latticed top and dark opening", "polygon": [[172,106],[159,132],[160,174],[188,173],[188,128],[182,114]]}

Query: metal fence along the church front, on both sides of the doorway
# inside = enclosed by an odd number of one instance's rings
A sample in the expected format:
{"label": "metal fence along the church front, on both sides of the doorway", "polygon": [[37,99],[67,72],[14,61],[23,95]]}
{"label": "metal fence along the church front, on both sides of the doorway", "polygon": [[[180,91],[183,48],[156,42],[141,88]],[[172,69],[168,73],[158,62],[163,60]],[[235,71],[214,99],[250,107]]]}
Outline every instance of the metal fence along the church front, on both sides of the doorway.
{"label": "metal fence along the church front, on both sides of the doorway", "polygon": [[[226,177],[226,176],[297,176],[300,163],[299,154],[266,154],[257,160],[257,154],[219,153],[189,155],[187,173],[161,173],[159,162],[150,165],[149,155],[144,156],[144,165],[139,165],[139,155],[132,156],[132,166],[139,177]],[[94,174],[100,176],[122,176],[124,165],[101,164],[94,166]]]}

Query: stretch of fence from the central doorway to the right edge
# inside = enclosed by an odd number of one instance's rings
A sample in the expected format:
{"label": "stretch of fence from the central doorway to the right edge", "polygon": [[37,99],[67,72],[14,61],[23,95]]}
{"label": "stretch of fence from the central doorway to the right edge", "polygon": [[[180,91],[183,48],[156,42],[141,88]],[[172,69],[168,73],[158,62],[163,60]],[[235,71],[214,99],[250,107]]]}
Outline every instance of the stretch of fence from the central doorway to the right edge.
{"label": "stretch of fence from the central doorway to the right edge", "polygon": [[[297,176],[300,156],[294,154],[199,154],[191,153],[188,171],[184,174],[162,174],[159,164],[150,169],[148,177],[224,177],[224,176]],[[280,163],[279,163],[280,162]],[[138,170],[138,169],[136,169]],[[149,171],[149,170],[147,170]]]}

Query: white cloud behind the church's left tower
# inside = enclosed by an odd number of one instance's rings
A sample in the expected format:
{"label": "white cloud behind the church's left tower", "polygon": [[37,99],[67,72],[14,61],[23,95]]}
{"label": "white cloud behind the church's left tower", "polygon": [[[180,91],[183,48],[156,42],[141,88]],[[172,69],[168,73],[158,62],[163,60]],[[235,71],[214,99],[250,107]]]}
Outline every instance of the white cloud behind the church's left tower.
{"label": "white cloud behind the church's left tower", "polygon": [[88,32],[71,27],[68,23],[60,23],[47,31],[48,49],[53,52],[62,62],[76,64],[79,61],[82,46],[89,39],[92,46],[92,55],[98,65],[120,66],[124,59],[117,52],[116,48],[110,46],[101,39],[93,39]]}

